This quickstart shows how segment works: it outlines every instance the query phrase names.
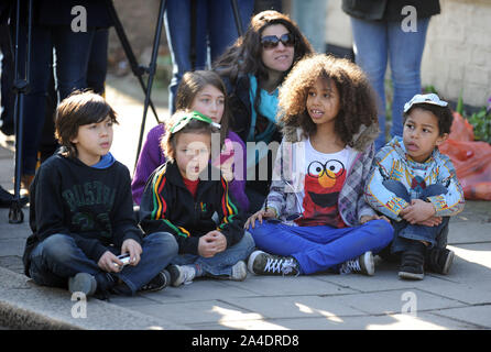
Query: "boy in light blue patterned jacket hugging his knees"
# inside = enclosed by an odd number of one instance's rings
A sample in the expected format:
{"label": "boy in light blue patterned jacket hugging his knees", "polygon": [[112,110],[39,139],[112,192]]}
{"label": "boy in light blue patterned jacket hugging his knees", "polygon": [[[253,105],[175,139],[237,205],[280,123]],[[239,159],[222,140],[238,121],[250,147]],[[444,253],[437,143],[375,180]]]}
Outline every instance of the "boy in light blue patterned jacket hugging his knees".
{"label": "boy in light blue patterned jacket hugging his knees", "polygon": [[390,250],[401,254],[401,278],[423,279],[425,270],[446,275],[452,263],[448,220],[463,210],[465,199],[450,158],[438,151],[451,122],[446,101],[416,95],[404,106],[403,138],[395,136],[373,160],[365,199],[392,220]]}

